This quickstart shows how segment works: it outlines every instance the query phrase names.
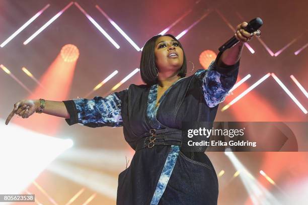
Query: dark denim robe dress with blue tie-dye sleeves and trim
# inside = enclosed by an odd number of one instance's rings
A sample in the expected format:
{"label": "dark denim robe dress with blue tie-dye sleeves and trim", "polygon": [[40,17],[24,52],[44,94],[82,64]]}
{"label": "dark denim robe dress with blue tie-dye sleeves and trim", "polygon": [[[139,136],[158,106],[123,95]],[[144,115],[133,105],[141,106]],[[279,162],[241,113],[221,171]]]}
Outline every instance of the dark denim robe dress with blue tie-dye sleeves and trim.
{"label": "dark denim robe dress with blue tie-dye sleeves and trim", "polygon": [[[121,127],[126,142],[137,142],[150,129],[197,129],[213,122],[218,105],[234,86],[239,62],[217,66],[180,78],[160,98],[158,85],[131,84],[107,97],[63,101],[70,119],[88,127]],[[212,124],[208,127],[211,128]],[[204,127],[204,126],[203,126]],[[182,138],[181,135],[178,136]],[[117,204],[217,204],[218,180],[205,150],[183,151],[177,145],[156,145],[135,152],[130,166],[119,174]]]}

